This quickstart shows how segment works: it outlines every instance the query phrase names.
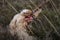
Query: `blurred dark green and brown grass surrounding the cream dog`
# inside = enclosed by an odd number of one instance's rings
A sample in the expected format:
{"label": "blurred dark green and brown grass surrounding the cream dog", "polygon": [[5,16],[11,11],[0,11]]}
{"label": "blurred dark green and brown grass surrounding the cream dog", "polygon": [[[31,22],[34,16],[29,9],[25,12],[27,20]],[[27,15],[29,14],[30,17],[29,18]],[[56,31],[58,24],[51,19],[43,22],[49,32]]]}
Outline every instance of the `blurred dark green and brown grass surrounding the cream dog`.
{"label": "blurred dark green and brown grass surrounding the cream dog", "polygon": [[7,30],[13,16],[22,9],[34,10],[43,1],[48,2],[42,6],[37,20],[30,24],[34,34],[29,33],[38,40],[60,40],[60,0],[0,0],[0,40],[17,40]]}

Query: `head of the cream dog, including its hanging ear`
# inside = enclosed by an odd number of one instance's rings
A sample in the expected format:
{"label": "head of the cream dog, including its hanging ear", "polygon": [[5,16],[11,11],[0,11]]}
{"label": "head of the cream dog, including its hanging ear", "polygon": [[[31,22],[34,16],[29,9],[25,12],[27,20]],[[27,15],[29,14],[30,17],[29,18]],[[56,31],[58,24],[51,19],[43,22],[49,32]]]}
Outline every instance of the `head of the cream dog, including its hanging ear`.
{"label": "head of the cream dog, including its hanging ear", "polygon": [[21,30],[25,26],[27,26],[28,23],[33,20],[33,17],[31,14],[33,14],[33,12],[29,9],[24,9],[19,14],[16,14],[9,24],[11,33],[14,34],[14,32],[16,31],[16,28],[18,28],[17,30]]}

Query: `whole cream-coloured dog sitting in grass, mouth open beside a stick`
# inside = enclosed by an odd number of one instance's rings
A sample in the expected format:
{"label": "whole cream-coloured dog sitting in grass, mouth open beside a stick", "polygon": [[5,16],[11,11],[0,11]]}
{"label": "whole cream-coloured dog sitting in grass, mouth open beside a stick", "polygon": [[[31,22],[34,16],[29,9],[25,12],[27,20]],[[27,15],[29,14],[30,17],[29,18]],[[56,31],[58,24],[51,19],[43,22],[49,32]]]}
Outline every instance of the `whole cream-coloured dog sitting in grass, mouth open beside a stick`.
{"label": "whole cream-coloured dog sitting in grass, mouth open beside a stick", "polygon": [[[33,12],[29,9],[24,9],[21,13],[16,14],[9,24],[10,33],[17,34],[19,40],[35,40],[33,36],[27,33],[26,26],[33,20],[31,16]],[[36,15],[37,16],[37,15]]]}

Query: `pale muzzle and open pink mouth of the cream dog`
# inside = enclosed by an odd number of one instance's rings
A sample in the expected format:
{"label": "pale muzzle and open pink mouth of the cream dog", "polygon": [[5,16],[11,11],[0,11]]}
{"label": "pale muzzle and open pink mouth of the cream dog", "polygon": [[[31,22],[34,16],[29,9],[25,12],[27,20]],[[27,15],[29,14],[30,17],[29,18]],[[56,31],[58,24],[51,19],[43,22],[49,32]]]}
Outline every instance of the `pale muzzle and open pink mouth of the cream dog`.
{"label": "pale muzzle and open pink mouth of the cream dog", "polygon": [[33,20],[33,16],[32,16],[33,11],[32,10],[24,9],[24,10],[21,11],[20,14],[25,17],[24,20],[26,22],[31,22]]}

